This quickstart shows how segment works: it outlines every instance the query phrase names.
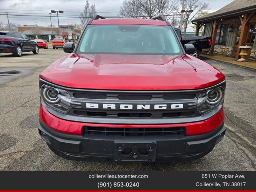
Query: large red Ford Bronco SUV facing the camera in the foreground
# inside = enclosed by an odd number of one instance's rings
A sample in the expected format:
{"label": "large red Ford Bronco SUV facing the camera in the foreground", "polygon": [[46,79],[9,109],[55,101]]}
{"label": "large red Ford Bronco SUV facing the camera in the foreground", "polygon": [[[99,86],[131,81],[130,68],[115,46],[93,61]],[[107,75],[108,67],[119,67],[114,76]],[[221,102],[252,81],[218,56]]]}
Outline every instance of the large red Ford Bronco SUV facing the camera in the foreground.
{"label": "large red Ford Bronco SUV facing the camera in the foreground", "polygon": [[225,76],[163,18],[96,16],[64,52],[39,83],[39,134],[59,156],[194,160],[224,137]]}

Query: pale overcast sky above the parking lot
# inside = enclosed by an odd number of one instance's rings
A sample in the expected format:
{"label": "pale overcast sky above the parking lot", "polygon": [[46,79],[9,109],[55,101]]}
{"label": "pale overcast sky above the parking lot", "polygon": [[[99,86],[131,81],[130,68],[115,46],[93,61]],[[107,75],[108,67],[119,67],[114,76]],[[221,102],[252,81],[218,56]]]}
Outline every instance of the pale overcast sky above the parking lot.
{"label": "pale overcast sky above the parking lot", "polygon": [[[209,11],[215,11],[229,4],[233,0],[201,0],[209,4]],[[37,16],[9,16],[11,23],[23,26],[35,25],[49,26],[50,18],[39,17],[48,16],[50,10],[63,10],[62,16],[79,16],[82,12],[86,0],[0,0],[1,14],[26,14]],[[102,16],[117,16],[123,0],[89,0],[90,4],[95,4],[96,11]],[[32,11],[34,10],[34,11]],[[54,16],[54,14],[52,14]],[[4,26],[8,24],[6,15],[0,15],[0,20]],[[60,18],[60,25],[77,23],[79,18]],[[52,25],[58,26],[57,18],[52,18]],[[188,31],[191,31],[188,29]]]}

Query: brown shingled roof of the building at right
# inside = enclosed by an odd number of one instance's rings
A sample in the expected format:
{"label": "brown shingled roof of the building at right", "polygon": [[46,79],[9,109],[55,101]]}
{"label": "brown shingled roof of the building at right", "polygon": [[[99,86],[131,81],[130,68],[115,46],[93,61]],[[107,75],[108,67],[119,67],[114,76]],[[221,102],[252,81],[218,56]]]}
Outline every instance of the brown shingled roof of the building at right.
{"label": "brown shingled roof of the building at right", "polygon": [[256,11],[256,0],[234,0],[230,4],[222,7],[216,12],[202,16],[192,22],[204,22],[224,16],[234,16],[239,13]]}

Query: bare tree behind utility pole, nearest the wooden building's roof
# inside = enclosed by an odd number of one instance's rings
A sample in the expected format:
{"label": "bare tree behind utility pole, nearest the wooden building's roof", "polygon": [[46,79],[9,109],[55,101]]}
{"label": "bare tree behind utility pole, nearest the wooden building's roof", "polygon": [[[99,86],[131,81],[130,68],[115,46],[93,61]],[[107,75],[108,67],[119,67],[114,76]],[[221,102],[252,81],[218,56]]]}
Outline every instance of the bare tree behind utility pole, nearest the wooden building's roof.
{"label": "bare tree behind utility pole, nearest the wooden building's roof", "polygon": [[[180,0],[182,2],[182,0]],[[208,8],[208,3],[201,2],[200,0],[185,0],[184,10],[193,10],[193,12],[185,12],[183,16],[183,28],[184,28],[184,36],[186,36],[186,30],[188,24],[195,18],[198,13],[205,12]],[[181,15],[181,8],[176,8],[176,13]]]}

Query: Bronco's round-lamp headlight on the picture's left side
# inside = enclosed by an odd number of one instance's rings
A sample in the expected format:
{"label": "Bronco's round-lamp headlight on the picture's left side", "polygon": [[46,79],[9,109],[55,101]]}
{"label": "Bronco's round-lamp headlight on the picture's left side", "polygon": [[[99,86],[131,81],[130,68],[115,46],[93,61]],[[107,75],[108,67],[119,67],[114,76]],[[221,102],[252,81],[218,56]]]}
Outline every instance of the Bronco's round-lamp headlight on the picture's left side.
{"label": "Bronco's round-lamp headlight on the picture's left side", "polygon": [[47,106],[64,114],[67,114],[73,105],[81,106],[81,103],[71,101],[71,97],[66,90],[45,84],[40,88],[40,96]]}

